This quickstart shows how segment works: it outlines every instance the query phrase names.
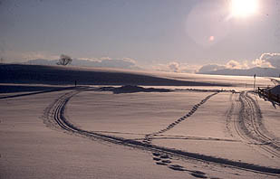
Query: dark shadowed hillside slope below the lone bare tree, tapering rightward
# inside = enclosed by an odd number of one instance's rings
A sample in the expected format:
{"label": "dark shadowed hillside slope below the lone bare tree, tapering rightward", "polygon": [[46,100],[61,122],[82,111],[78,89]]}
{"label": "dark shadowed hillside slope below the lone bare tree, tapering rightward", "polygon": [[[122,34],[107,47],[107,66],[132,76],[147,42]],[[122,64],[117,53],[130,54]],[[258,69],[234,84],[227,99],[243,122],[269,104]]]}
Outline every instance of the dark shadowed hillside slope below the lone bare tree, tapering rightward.
{"label": "dark shadowed hillside slope below the lone bare tree, tapering rightward", "polygon": [[75,80],[79,85],[213,86],[204,82],[170,80],[125,71],[95,71],[23,64],[0,65],[0,83],[69,85]]}

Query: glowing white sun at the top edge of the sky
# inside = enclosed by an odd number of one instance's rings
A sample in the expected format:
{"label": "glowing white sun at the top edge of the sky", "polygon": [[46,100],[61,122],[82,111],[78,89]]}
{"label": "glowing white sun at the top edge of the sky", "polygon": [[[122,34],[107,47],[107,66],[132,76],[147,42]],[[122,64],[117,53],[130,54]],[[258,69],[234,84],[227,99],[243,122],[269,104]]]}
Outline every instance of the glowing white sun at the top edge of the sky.
{"label": "glowing white sun at the top edge of the sky", "polygon": [[256,14],[258,0],[231,0],[231,14],[233,17],[247,17]]}

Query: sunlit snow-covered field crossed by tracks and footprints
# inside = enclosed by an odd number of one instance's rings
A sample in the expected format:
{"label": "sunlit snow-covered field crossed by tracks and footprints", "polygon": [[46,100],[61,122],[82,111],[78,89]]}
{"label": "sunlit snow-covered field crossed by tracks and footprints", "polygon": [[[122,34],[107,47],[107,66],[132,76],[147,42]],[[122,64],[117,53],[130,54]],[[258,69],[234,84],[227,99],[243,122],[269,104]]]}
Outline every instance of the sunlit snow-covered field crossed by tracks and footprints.
{"label": "sunlit snow-covered field crossed by tracks and footprints", "polygon": [[230,86],[1,93],[0,178],[280,177],[279,106],[252,92],[252,77],[154,76]]}

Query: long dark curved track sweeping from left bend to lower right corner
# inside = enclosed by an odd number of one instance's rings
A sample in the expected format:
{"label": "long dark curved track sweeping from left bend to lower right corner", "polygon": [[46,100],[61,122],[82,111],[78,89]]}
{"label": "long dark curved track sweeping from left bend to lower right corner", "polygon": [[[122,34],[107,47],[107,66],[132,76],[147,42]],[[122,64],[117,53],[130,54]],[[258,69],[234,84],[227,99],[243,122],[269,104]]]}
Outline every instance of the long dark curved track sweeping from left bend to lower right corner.
{"label": "long dark curved track sweeping from left bend to lower right corner", "polygon": [[[159,153],[160,155],[171,155],[176,156],[183,159],[193,159],[200,162],[207,162],[213,165],[222,165],[222,166],[228,166],[232,168],[237,168],[240,170],[250,171],[254,173],[259,174],[268,174],[268,175],[275,175],[280,176],[280,169],[273,168],[273,167],[267,167],[267,166],[261,166],[261,165],[254,165],[254,164],[248,164],[244,162],[237,162],[228,160],[226,158],[218,158],[216,156],[210,156],[210,155],[201,155],[197,153],[190,153],[186,151],[181,151],[179,149],[174,148],[168,148],[164,146],[155,146],[146,144],[140,141],[135,141],[131,139],[126,139],[122,137],[115,137],[115,136],[109,136],[109,135],[103,135],[101,133],[97,132],[91,132],[83,130],[82,128],[75,127],[70,123],[67,118],[65,118],[65,108],[69,100],[79,92],[82,92],[86,88],[79,88],[76,90],[72,90],[71,92],[67,92],[63,94],[63,96],[59,97],[58,99],[54,100],[54,102],[47,108],[45,108],[43,120],[44,123],[47,126],[53,126],[60,129],[63,129],[64,131],[67,131],[72,134],[76,134],[82,137],[88,137],[88,138],[94,138],[99,139],[101,141],[110,142],[113,144],[118,144],[122,146],[130,146],[133,148],[138,148],[145,151],[150,151],[153,153]],[[163,157],[162,157],[163,158]],[[179,167],[174,166],[174,170],[177,170]],[[172,169],[172,168],[171,168]],[[192,171],[194,172],[194,171]],[[192,173],[192,175],[196,175],[196,173]],[[203,174],[202,174],[203,175]]]}

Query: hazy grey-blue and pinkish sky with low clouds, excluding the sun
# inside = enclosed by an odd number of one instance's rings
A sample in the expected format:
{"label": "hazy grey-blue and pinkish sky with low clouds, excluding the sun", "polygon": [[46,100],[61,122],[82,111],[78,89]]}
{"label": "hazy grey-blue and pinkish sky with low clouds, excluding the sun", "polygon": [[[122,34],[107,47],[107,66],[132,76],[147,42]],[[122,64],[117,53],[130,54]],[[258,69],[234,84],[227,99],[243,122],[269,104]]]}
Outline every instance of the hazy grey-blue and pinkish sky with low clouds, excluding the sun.
{"label": "hazy grey-blue and pinkish sky with low clouds, excluding the sun", "polygon": [[[244,0],[246,1],[246,0]],[[231,16],[229,0],[0,0],[5,61],[130,58],[143,67],[253,61],[280,52],[280,1]]]}

